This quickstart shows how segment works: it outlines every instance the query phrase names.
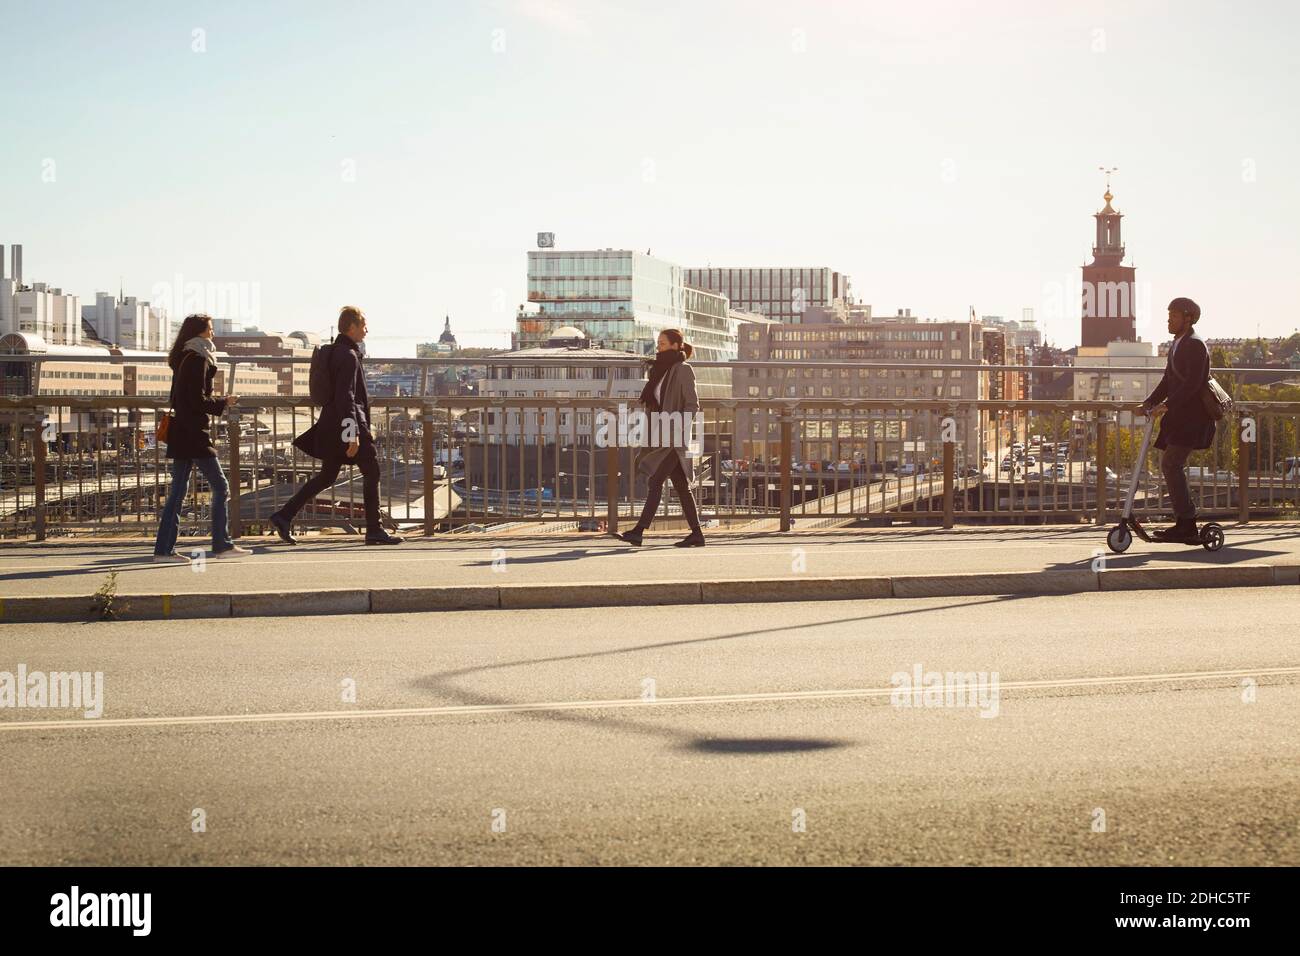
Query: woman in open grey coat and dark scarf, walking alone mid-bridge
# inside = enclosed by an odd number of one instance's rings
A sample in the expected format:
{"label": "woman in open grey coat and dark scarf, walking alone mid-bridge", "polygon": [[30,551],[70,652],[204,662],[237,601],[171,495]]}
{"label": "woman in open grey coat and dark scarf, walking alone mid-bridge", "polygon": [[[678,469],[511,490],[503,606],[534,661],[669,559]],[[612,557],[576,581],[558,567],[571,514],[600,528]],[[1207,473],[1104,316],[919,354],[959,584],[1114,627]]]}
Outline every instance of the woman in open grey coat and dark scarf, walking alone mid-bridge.
{"label": "woman in open grey coat and dark scarf, walking alone mid-bridge", "polygon": [[[680,329],[664,329],[659,333],[658,352],[654,364],[650,367],[650,378],[641,389],[641,402],[653,412],[676,412],[681,415],[684,428],[679,434],[682,441],[689,442],[692,437],[692,423],[696,412],[699,411],[699,395],[696,393],[696,371],[686,359],[692,354],[690,343],[682,338]],[[673,436],[673,429],[667,429],[668,436]],[[690,483],[694,479],[694,463],[686,455],[685,447],[650,447],[637,457],[637,471],[650,476],[646,486],[646,503],[641,509],[641,518],[630,531],[625,531],[619,537],[630,545],[641,545],[641,537],[650,522],[654,520],[655,511],[659,510],[659,498],[663,494],[663,483],[672,481],[672,488],[681,502],[681,514],[690,525],[690,535],[677,541],[675,548],[703,548],[705,532],[699,527],[699,512],[696,509],[696,497],[690,493]]]}

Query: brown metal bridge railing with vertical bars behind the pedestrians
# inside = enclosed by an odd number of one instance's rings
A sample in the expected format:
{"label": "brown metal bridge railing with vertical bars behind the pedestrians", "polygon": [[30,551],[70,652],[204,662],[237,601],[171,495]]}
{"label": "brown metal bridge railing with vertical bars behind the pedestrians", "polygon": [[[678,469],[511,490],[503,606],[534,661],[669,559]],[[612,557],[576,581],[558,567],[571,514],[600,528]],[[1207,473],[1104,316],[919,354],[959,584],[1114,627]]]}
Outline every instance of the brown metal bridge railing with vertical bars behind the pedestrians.
{"label": "brown metal bridge railing with vertical bars behind the pedestrians", "polygon": [[[381,509],[398,528],[437,533],[511,525],[614,531],[640,514],[641,449],[621,429],[632,399],[425,397],[372,399]],[[696,496],[723,528],[857,522],[1106,522],[1122,507],[1143,420],[1112,402],[924,399],[702,401]],[[153,533],[169,462],[153,441],[162,399],[0,399],[0,535]],[[621,416],[621,418],[620,418]],[[317,467],[292,445],[315,421],[306,398],[254,397],[213,419],[231,485],[234,533],[266,519]],[[1248,402],[1191,458],[1205,515],[1300,515],[1300,403]],[[603,428],[602,428],[603,425]],[[1141,463],[1135,512],[1169,511],[1157,453]],[[191,477],[182,529],[208,533],[211,499]],[[680,510],[666,489],[663,520]],[[306,527],[358,528],[359,476],[302,512]]]}

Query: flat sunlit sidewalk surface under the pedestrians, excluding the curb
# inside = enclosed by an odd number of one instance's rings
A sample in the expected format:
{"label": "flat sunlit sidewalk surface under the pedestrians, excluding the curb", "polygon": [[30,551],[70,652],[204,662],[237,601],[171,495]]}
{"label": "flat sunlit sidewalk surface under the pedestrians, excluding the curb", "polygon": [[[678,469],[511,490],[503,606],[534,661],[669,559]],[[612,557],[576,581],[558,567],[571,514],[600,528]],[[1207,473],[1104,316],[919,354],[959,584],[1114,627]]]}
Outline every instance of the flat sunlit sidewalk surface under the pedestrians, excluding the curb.
{"label": "flat sunlit sidewalk surface under the pedestrians, excluding the curb", "polygon": [[[1227,546],[1148,545],[1106,567],[1300,564],[1300,524],[1226,525]],[[243,538],[254,554],[205,561],[202,572],[153,564],[152,541],[74,541],[0,548],[0,597],[92,594],[117,571],[121,594],[235,593],[322,588],[403,588],[451,584],[545,584],[637,580],[749,580],[803,575],[898,575],[1088,568],[1105,551],[1106,528],[1010,527],[864,528],[826,535],[715,533],[703,549],[672,548],[681,533],[655,533],[633,549],[608,536],[532,538],[437,536],[399,548],[365,548],[356,538],[316,536],[298,548]],[[205,540],[183,541],[205,546]]]}

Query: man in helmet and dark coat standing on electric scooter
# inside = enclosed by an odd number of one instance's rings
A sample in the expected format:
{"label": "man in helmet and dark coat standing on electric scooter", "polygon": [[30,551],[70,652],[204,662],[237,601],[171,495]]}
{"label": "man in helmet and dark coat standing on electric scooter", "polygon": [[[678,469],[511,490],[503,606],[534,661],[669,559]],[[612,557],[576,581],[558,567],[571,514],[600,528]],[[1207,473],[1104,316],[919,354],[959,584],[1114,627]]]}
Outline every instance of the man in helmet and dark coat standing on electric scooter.
{"label": "man in helmet and dark coat standing on electric scooter", "polygon": [[1160,471],[1169,488],[1175,523],[1156,531],[1152,538],[1170,544],[1201,544],[1186,471],[1187,457],[1214,442],[1214,419],[1201,401],[1201,390],[1210,377],[1210,354],[1192,329],[1200,317],[1201,307],[1191,299],[1176,298],[1169,303],[1169,333],[1174,343],[1160,385],[1139,406],[1144,415],[1164,415],[1156,447],[1161,450]]}

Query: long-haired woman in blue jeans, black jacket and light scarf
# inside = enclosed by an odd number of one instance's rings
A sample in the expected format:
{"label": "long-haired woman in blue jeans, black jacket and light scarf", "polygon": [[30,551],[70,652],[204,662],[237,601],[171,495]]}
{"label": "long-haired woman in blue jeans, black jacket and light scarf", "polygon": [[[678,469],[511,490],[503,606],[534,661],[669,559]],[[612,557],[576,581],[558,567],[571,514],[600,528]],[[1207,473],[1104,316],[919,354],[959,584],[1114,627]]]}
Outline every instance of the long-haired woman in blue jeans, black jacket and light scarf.
{"label": "long-haired woman in blue jeans, black jacket and light scarf", "polygon": [[176,551],[181,533],[181,505],[190,484],[190,472],[198,468],[212,490],[212,553],[217,558],[251,554],[230,540],[226,507],[230,485],[221,471],[217,450],[208,433],[208,416],[221,415],[239,399],[237,395],[212,397],[212,380],[217,375],[217,347],[212,342],[212,316],[188,315],[181,324],[172,351],[172,424],[168,425],[166,457],[172,459],[172,492],[159,520],[153,544],[155,563],[182,563],[188,559]]}

